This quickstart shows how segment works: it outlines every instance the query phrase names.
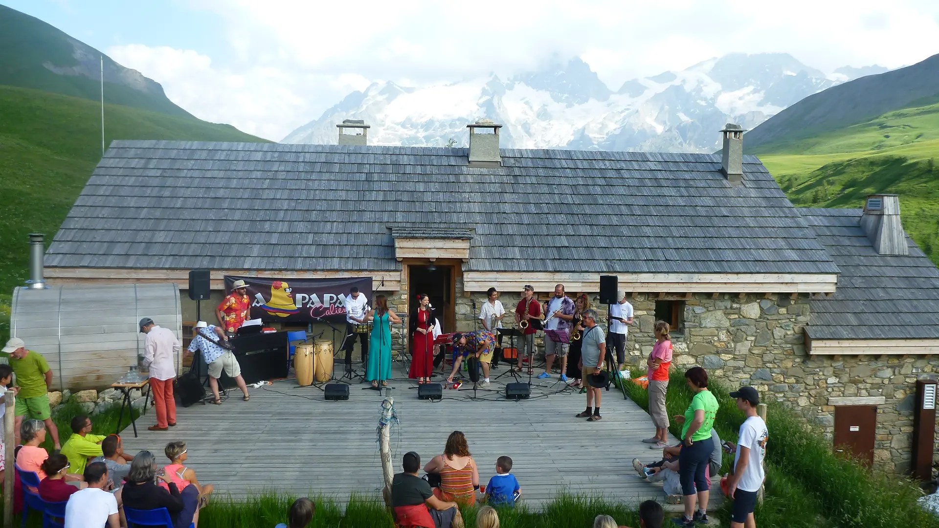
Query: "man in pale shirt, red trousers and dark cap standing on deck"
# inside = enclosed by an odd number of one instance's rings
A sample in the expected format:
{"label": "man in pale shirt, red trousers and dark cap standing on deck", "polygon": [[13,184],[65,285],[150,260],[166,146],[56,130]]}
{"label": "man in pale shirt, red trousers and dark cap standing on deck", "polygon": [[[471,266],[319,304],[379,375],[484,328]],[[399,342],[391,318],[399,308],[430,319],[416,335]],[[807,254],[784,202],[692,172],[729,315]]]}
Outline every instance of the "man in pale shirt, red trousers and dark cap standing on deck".
{"label": "man in pale shirt, red trousers and dark cap standing on deck", "polygon": [[151,318],[140,319],[140,332],[146,334],[144,367],[150,371],[150,390],[157,408],[157,425],[151,431],[165,431],[176,426],[176,400],[173,398],[173,380],[176,378],[174,358],[179,354],[179,340],[168,328],[153,323]]}

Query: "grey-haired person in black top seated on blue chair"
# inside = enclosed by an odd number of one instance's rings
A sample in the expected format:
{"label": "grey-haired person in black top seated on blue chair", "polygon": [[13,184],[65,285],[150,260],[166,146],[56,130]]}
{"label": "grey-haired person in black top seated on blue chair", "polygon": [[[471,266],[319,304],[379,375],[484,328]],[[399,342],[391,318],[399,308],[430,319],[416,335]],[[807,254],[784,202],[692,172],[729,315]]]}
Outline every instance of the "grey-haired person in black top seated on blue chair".
{"label": "grey-haired person in black top seated on blue chair", "polygon": [[[168,491],[156,485],[154,481],[158,478],[166,484],[169,488]],[[153,458],[153,453],[149,451],[141,451],[134,455],[131,462],[131,473],[127,474],[127,481],[124,488],[121,489],[121,493],[125,507],[133,509],[166,508],[175,528],[188,528],[190,523],[195,522],[195,517],[197,517],[197,515],[192,515],[192,512],[195,511],[194,502],[191,507],[187,507],[183,503],[176,482],[173,482],[168,474],[158,474],[157,461]],[[184,510],[190,512],[188,517],[182,515]]]}

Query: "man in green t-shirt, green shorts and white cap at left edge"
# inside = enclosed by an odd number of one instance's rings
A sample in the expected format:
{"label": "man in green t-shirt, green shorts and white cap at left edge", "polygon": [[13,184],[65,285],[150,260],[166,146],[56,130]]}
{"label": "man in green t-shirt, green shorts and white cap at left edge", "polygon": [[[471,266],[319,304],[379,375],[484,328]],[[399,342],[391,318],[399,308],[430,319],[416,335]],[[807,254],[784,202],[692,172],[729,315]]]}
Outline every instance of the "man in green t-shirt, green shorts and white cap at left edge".
{"label": "man in green t-shirt, green shorts and white cap at left edge", "polygon": [[26,343],[19,337],[7,341],[3,348],[5,355],[9,356],[9,366],[16,374],[16,384],[20,392],[16,395],[16,416],[14,436],[16,443],[20,443],[20,426],[23,416],[42,420],[46,430],[53,435],[55,451],[62,448],[58,440],[58,429],[52,419],[52,410],[49,409],[49,385],[53,382],[53,369],[46,363],[42,354],[26,349]]}

